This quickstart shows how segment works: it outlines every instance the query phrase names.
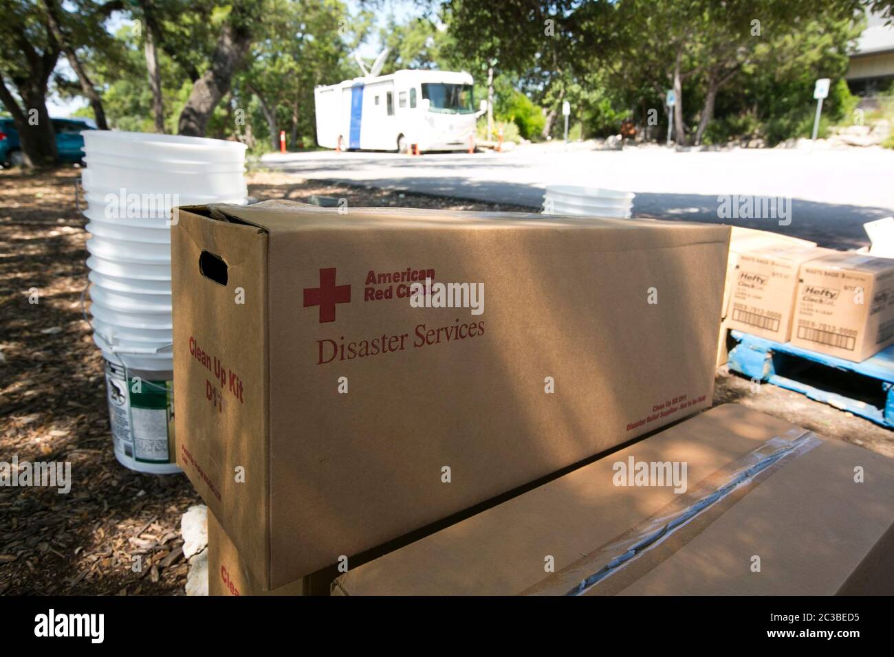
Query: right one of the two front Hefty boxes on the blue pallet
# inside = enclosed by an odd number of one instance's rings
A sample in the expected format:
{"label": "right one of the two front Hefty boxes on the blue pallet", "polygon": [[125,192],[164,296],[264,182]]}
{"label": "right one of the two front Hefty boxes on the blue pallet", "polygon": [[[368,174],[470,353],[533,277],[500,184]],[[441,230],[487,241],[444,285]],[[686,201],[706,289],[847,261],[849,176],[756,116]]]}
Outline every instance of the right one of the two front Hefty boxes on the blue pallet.
{"label": "right one of the two front Hefty boxes on the blue pallet", "polygon": [[861,362],[894,343],[894,260],[832,252],[801,268],[791,343]]}

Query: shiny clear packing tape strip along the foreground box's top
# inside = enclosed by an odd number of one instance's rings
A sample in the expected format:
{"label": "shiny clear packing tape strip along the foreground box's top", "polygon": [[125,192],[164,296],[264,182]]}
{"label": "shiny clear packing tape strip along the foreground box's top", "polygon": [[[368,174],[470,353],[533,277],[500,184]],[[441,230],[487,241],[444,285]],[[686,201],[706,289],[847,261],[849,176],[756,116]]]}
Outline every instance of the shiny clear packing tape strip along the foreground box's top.
{"label": "shiny clear packing tape strip along the foreground box's top", "polygon": [[701,534],[764,479],[821,443],[804,429],[771,438],[522,595],[620,593]]}

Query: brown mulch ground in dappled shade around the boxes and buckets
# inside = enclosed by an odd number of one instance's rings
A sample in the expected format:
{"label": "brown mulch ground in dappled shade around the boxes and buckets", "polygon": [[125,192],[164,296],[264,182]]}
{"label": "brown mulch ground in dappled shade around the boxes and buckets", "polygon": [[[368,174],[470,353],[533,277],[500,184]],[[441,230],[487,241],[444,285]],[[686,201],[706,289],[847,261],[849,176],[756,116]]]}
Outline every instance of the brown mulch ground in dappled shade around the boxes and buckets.
{"label": "brown mulch ground in dappled shade around the boxes and buckets", "polygon": [[[180,518],[200,501],[185,476],[140,475],[114,458],[103,360],[81,307],[88,235],[75,205],[79,177],[75,168],[0,172],[0,461],[72,464],[71,493],[0,489],[0,594],[183,594]],[[525,210],[266,172],[249,176],[249,194]],[[717,383],[717,403],[744,403],[894,457],[886,429],[771,385],[755,393],[722,370]]]}

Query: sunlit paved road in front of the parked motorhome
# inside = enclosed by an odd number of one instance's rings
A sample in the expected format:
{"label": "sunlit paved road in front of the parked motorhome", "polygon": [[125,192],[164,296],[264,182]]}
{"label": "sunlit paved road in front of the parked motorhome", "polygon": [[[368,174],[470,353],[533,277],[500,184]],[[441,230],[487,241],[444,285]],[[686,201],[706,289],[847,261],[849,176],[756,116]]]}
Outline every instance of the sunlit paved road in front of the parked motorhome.
{"label": "sunlit paved road in front of the parked motorhome", "polygon": [[[763,228],[822,246],[868,243],[863,223],[894,215],[894,151],[741,149],[677,153],[519,147],[511,153],[429,154],[320,151],[273,154],[264,164],[303,178],[539,207],[550,184],[636,192],[633,213]],[[721,218],[721,195],[791,199],[791,223]]]}

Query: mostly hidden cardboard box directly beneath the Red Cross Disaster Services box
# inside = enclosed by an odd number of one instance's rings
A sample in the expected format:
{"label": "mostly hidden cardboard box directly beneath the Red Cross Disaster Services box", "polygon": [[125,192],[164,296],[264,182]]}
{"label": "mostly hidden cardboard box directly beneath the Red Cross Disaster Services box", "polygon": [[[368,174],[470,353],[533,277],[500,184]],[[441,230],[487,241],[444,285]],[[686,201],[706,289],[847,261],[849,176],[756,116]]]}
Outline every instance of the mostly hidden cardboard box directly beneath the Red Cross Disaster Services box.
{"label": "mostly hidden cardboard box directly beneath the Red Cross Disaster Services box", "polygon": [[239,549],[208,511],[208,595],[306,595],[309,577],[270,590],[239,556]]}

